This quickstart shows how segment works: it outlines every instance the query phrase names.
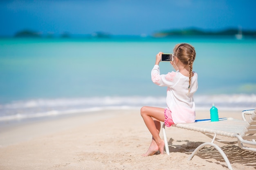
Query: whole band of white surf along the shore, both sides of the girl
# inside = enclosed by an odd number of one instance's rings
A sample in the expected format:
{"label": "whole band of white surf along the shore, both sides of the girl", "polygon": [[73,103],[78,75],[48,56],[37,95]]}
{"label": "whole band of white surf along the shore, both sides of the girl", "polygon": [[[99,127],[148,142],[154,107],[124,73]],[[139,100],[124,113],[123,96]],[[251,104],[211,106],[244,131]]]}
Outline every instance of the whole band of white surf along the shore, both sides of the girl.
{"label": "whole band of white surf along the shore, both sides of the girl", "polygon": [[[256,95],[195,95],[197,110],[209,110],[214,103],[221,110],[245,110],[256,107]],[[142,106],[166,107],[166,97],[84,97],[34,99],[0,104],[0,121],[51,117],[100,110],[121,110]]]}

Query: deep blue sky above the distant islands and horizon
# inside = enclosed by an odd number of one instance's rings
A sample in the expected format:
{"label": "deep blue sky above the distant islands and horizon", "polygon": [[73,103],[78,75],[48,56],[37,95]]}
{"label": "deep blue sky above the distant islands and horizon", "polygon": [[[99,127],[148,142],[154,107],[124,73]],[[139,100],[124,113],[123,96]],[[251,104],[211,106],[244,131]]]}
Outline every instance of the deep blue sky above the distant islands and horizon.
{"label": "deep blue sky above the distant islands and horizon", "polygon": [[256,30],[255,9],[256,0],[1,0],[0,35],[23,29],[112,35],[190,27]]}

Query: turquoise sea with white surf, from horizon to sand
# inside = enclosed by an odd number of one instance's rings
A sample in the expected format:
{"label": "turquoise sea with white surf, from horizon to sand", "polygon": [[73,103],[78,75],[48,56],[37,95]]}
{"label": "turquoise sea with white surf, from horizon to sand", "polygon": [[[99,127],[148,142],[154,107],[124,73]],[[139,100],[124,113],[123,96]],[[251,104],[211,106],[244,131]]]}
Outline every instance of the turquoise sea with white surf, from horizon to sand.
{"label": "turquoise sea with white surf, from horizon to sand", "polygon": [[[177,43],[195,47],[197,109],[256,107],[256,39],[2,38],[0,124],[93,110],[166,107],[166,88],[151,82],[155,55]],[[160,71],[173,71],[168,62]]]}

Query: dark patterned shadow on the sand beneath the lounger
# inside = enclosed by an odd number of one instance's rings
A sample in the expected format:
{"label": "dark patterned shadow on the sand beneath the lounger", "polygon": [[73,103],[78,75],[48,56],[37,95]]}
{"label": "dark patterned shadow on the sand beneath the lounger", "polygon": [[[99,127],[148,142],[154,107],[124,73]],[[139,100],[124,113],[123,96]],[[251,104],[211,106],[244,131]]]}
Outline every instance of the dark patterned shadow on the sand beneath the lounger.
{"label": "dark patterned shadow on the sand beneath the lounger", "polygon": [[[201,144],[204,143],[204,142],[191,142],[188,140],[175,141],[175,142],[176,143],[181,142],[183,144],[173,145],[173,139],[170,139],[168,141],[170,152],[182,152],[187,155],[191,155],[192,152],[195,150],[195,148],[197,148],[198,146],[200,146]],[[226,146],[223,146],[220,148],[223,150],[223,152],[225,152],[225,154],[227,155],[231,164],[232,163],[240,163],[245,166],[250,166],[250,167],[256,169],[256,152],[242,150],[236,145],[226,145]],[[210,161],[210,159],[215,159],[216,161],[225,163],[225,160],[220,155],[220,152],[218,152],[215,148],[210,147],[210,146],[202,148],[200,151],[197,152],[196,156],[200,157],[201,159],[209,159],[206,161],[211,162],[211,163],[213,163],[213,161]],[[214,162],[214,163],[218,163],[218,162]],[[218,164],[220,164],[220,163],[218,163]],[[222,166],[227,167],[226,164],[222,165]]]}

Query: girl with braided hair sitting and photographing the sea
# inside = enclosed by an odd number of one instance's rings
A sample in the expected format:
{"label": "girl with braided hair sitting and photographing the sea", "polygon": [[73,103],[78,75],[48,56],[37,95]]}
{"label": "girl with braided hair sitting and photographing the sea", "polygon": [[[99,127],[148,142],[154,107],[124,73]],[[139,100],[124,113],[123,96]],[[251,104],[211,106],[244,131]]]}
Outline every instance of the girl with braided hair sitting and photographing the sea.
{"label": "girl with braided hair sitting and photographing the sea", "polygon": [[193,94],[198,89],[198,75],[192,71],[195,60],[195,48],[190,44],[177,44],[173,49],[171,64],[176,72],[160,75],[159,62],[162,52],[156,55],[151,79],[158,86],[167,87],[167,108],[143,106],[141,117],[152,135],[151,144],[142,156],[154,155],[158,150],[164,153],[164,140],[159,136],[160,121],[167,127],[177,123],[195,121],[195,102]]}

